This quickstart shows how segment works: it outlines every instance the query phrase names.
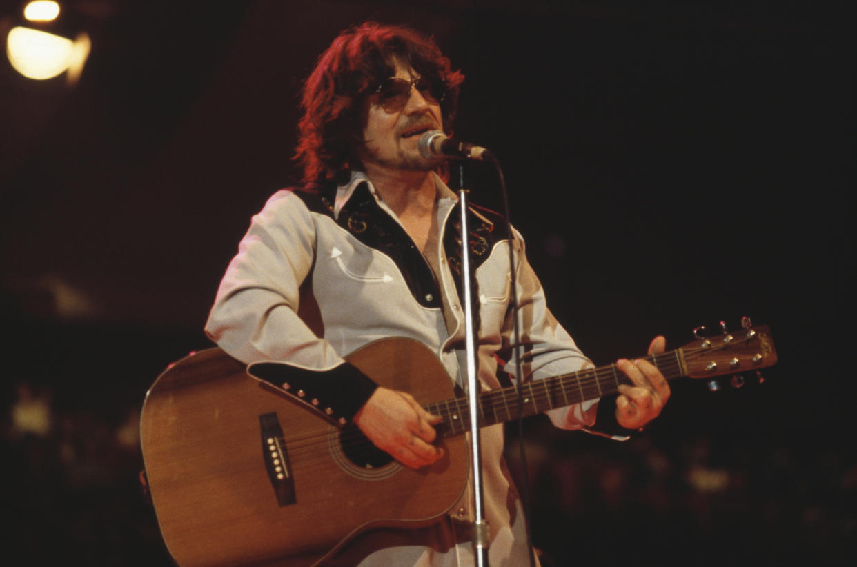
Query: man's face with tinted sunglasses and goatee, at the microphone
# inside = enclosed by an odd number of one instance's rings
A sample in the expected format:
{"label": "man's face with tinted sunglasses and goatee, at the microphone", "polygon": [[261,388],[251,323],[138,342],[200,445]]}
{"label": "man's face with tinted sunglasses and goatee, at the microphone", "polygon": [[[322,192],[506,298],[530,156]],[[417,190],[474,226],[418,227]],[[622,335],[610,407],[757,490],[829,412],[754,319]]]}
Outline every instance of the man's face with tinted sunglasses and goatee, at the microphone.
{"label": "man's face with tinted sunglasses and goatee, at the microphone", "polygon": [[[399,61],[395,62],[395,68],[397,79],[419,79],[413,69]],[[369,96],[364,146],[359,152],[367,173],[373,168],[430,171],[438,164],[437,158],[420,155],[417,142],[423,132],[443,129],[440,103],[428,91],[421,93],[417,87],[409,87],[404,97],[399,97],[399,104],[384,104],[383,97]]]}

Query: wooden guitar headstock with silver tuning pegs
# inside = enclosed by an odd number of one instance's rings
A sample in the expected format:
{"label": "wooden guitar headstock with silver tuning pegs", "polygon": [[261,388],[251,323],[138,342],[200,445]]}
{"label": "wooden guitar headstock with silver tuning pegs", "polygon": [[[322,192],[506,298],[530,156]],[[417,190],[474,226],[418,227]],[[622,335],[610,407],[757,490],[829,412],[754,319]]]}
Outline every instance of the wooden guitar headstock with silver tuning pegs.
{"label": "wooden guitar headstock with silver tuning pegs", "polygon": [[744,318],[740,331],[728,332],[722,322],[721,326],[723,333],[715,337],[701,337],[698,331],[704,327],[698,327],[693,332],[697,340],[681,348],[687,376],[710,379],[758,371],[776,363],[768,325],[752,326],[750,319]]}

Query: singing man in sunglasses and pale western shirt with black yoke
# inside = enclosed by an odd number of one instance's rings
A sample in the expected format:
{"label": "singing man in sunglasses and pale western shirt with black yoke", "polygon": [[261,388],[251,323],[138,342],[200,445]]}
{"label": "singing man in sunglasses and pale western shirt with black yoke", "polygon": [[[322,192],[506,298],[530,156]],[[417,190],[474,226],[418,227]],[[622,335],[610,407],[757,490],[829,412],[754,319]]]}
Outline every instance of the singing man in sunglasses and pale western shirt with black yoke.
{"label": "singing man in sunglasses and pale western shirt with black yoke", "polygon": [[[285,389],[309,384],[314,404],[411,469],[443,457],[434,428],[440,418],[344,357],[378,339],[409,337],[436,355],[453,386],[466,384],[458,199],[444,182],[443,159],[425,158],[417,147],[427,131],[451,132],[462,81],[434,42],[411,29],[368,23],[341,33],[303,91],[297,158],[306,185],[273,194],[255,215],[206,326],[251,373],[254,363],[276,365],[276,373],[255,375]],[[524,380],[590,367],[548,311],[521,236],[507,234],[494,212],[474,206],[467,216],[482,390],[500,388],[502,371],[514,375],[518,354]],[[514,318],[519,350],[512,348]],[[663,349],[656,337],[649,350]],[[620,386],[616,420],[642,427],[666,403],[667,382],[646,361],[617,367],[632,385]],[[590,427],[596,405],[549,416],[557,427]],[[485,427],[481,438],[489,564],[528,565],[522,506],[502,458],[503,426]],[[464,491],[428,527],[369,530],[329,564],[471,565],[471,499]]]}

